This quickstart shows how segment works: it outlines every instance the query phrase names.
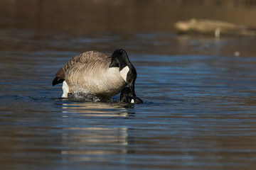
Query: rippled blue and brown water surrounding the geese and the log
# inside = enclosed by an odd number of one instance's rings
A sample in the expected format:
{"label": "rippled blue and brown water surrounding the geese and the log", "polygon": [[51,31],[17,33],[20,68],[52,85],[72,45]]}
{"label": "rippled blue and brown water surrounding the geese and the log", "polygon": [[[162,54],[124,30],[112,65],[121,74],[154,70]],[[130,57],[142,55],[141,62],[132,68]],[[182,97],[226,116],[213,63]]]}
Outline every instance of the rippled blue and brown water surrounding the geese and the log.
{"label": "rippled blue and brown water surrounding the geese and the log", "polygon": [[[255,1],[1,1],[0,169],[255,169],[256,38],[173,28],[255,16]],[[65,62],[119,47],[144,104],[58,98]]]}

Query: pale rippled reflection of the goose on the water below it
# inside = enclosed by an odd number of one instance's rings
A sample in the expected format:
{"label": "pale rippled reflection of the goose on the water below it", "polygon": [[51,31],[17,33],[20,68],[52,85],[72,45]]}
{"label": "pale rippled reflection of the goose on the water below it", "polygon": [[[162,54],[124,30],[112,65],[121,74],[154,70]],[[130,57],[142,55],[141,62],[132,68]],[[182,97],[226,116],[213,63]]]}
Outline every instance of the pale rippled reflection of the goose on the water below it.
{"label": "pale rippled reflection of the goose on the water below it", "polygon": [[63,103],[62,158],[105,162],[127,153],[128,141],[132,140],[128,139],[127,126],[119,120],[132,115],[119,103]]}

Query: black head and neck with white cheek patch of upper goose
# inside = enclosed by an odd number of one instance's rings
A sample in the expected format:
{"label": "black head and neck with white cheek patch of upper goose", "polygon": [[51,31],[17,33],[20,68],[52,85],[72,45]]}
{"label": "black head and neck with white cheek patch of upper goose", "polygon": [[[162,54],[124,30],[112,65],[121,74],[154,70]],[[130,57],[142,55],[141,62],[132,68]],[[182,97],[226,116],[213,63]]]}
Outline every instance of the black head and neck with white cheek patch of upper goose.
{"label": "black head and neck with white cheek patch of upper goose", "polygon": [[110,67],[119,67],[121,77],[127,82],[132,94],[135,96],[134,84],[137,78],[137,72],[129,61],[127,52],[122,49],[115,50],[112,55]]}

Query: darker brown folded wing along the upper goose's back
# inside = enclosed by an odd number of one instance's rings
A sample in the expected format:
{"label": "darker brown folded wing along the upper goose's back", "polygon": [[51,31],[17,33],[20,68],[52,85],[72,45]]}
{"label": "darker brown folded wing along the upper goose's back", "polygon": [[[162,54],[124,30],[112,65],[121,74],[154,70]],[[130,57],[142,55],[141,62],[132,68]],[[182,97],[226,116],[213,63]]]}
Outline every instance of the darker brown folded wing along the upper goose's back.
{"label": "darker brown folded wing along the upper goose's back", "polygon": [[69,60],[63,67],[61,67],[55,74],[53,79],[53,86],[55,84],[60,84],[65,81],[65,72],[73,67],[75,64],[87,64],[89,62],[106,62],[111,60],[111,55],[104,54],[102,52],[88,51],[83,52],[81,55],[73,57]]}

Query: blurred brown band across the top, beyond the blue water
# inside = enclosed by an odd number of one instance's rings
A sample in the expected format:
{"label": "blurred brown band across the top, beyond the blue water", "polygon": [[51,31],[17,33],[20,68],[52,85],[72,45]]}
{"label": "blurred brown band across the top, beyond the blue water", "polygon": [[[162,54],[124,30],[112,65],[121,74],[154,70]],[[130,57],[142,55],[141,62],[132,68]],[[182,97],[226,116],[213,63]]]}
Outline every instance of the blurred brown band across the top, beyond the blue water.
{"label": "blurred brown band across the top, beyond the blue water", "polygon": [[70,33],[95,31],[175,33],[174,23],[207,18],[256,27],[254,1],[102,1],[3,0],[3,28],[56,30]]}

